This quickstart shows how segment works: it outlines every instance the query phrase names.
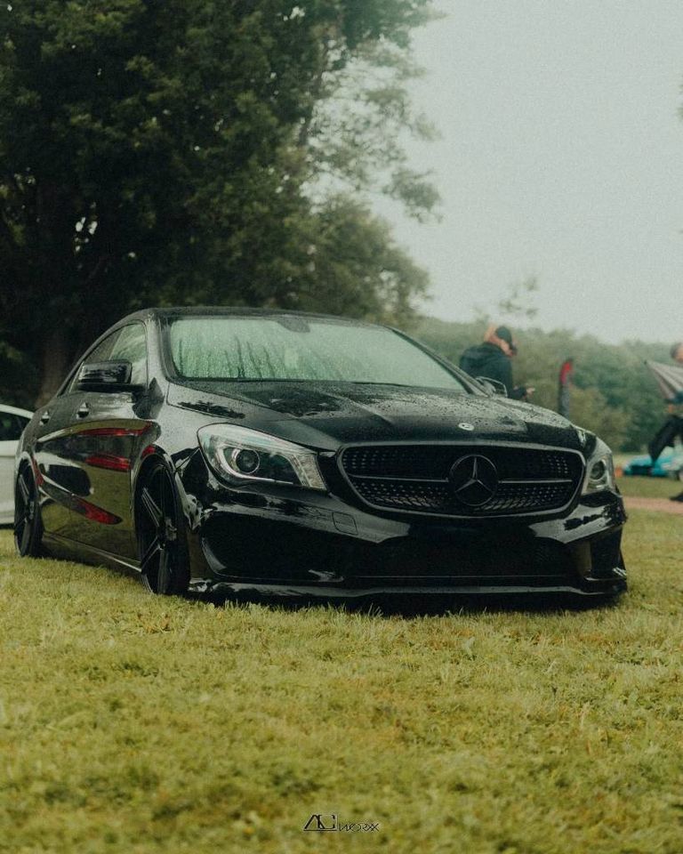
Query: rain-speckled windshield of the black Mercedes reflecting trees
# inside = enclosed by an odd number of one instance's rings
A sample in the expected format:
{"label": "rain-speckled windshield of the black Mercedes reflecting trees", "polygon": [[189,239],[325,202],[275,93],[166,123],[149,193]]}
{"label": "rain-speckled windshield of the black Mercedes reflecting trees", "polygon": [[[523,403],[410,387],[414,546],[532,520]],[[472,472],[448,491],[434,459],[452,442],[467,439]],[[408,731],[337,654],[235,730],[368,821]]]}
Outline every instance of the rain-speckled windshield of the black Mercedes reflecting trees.
{"label": "rain-speckled windshield of the black Mercedes reflecting trees", "polygon": [[300,317],[184,317],[167,348],[186,380],[390,383],[468,391],[438,361],[382,326]]}

